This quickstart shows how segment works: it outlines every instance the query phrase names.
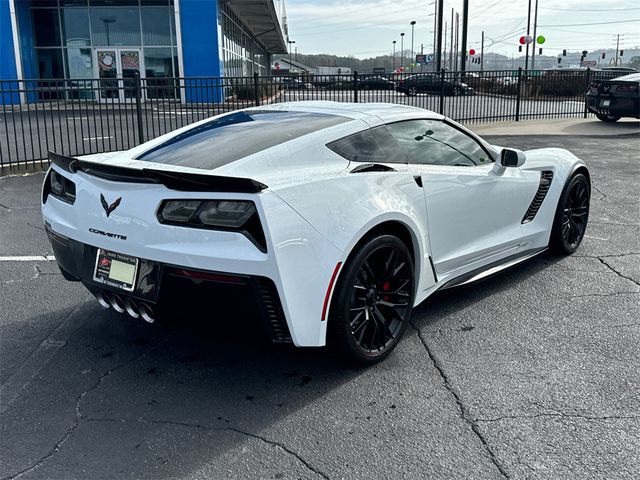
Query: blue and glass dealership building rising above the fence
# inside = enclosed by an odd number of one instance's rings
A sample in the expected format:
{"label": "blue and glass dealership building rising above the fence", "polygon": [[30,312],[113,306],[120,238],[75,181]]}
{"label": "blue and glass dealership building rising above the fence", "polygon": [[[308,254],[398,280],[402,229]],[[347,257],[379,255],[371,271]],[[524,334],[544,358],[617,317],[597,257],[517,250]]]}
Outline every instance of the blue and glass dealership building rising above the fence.
{"label": "blue and glass dealership building rising above the fence", "polygon": [[284,0],[0,0],[0,80],[269,74]]}

